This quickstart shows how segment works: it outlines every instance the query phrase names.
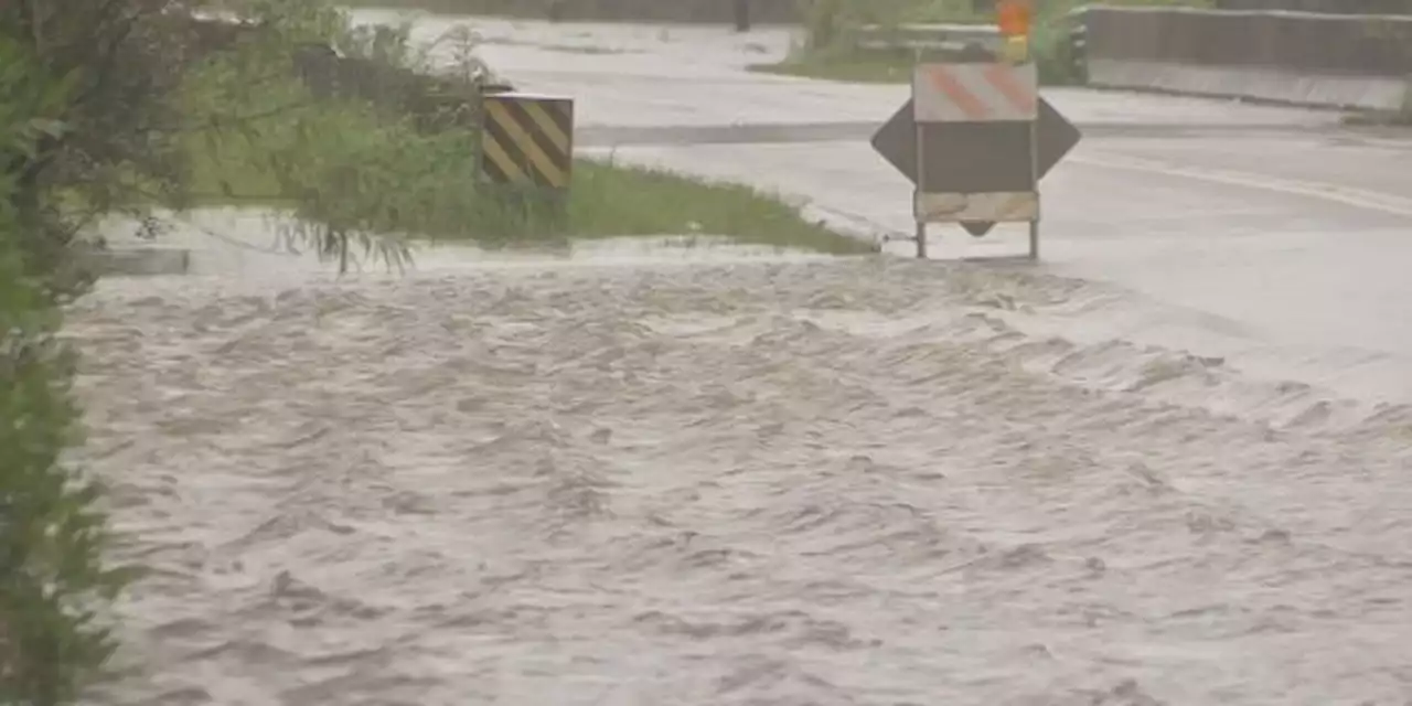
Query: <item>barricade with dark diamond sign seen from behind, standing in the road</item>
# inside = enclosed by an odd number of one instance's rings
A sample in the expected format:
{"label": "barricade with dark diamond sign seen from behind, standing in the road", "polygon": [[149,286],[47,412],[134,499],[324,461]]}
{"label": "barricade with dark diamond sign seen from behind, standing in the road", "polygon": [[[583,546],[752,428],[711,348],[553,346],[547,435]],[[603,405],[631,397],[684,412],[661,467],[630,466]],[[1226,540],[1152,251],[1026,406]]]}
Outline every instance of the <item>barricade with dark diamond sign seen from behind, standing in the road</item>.
{"label": "barricade with dark diamond sign seen from behind, standing in the road", "polygon": [[[946,76],[952,78],[953,83],[959,83],[963,90],[971,86],[971,82],[977,80],[977,78],[981,80],[986,79],[984,72],[987,69],[967,68],[962,71],[962,79],[957,82],[959,66],[977,66],[977,64],[946,65],[949,69]],[[979,66],[995,65],[981,64]],[[990,71],[994,75],[1000,75],[995,69]],[[926,69],[926,72],[923,78],[935,75],[935,69]],[[922,72],[919,71],[918,73]],[[1039,96],[1034,100],[1034,119],[1028,121],[921,121],[916,117],[919,112],[928,117],[945,119],[956,114],[956,112],[966,114],[966,110],[960,106],[950,106],[945,110],[938,109],[935,104],[938,100],[943,103],[950,100],[955,103],[955,99],[950,99],[950,92],[942,92],[943,96],[931,95],[923,97],[922,100],[928,102],[928,104],[918,109],[916,83],[923,83],[923,88],[926,88],[928,82],[914,82],[914,99],[902,104],[878,128],[873,136],[873,148],[916,186],[914,202],[918,206],[925,205],[932,206],[935,210],[949,210],[955,217],[947,217],[946,220],[959,220],[962,227],[977,237],[988,233],[995,226],[995,220],[998,220],[983,216],[987,210],[991,216],[1012,220],[1017,212],[1011,203],[1015,198],[1024,192],[1036,192],[1038,181],[1063,160],[1079,144],[1082,137],[1069,120]],[[991,80],[990,88],[966,90],[966,93],[971,93],[974,102],[967,102],[964,97],[960,102],[969,104],[971,109],[970,114],[981,117],[994,114],[1015,117],[1017,112],[1022,113],[1018,106],[1022,106],[1024,102],[1017,103],[1012,100],[1012,96],[1003,95],[1014,92],[1003,90],[994,83]],[[943,85],[950,88],[950,83],[943,82]],[[980,93],[980,96],[976,96],[976,93]],[[1003,100],[1014,106],[1014,110],[994,109],[983,113],[974,106],[977,102],[983,106],[994,106]],[[921,164],[918,164],[919,157]],[[970,201],[977,202],[976,208],[957,212],[955,198],[957,193],[970,195]],[[976,195],[980,193],[1010,193],[1011,196],[983,196],[977,199]],[[981,203],[986,201],[990,201],[990,203]],[[1032,201],[1036,206],[1038,198]],[[929,209],[916,208],[915,210]],[[1021,212],[1025,210],[1036,209],[1021,209]],[[925,219],[919,217],[918,220],[918,251],[925,253],[925,227],[922,227]],[[1032,229],[1032,256],[1038,254],[1036,237],[1036,232]]]}

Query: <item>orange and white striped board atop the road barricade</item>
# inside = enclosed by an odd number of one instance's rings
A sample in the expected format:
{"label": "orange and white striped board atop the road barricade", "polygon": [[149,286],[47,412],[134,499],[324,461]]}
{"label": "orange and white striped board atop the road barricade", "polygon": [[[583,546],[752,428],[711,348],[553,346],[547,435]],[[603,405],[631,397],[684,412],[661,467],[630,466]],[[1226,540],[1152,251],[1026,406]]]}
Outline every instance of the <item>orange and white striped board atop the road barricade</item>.
{"label": "orange and white striped board atop the road barricade", "polygon": [[991,123],[1039,117],[1034,64],[921,64],[912,72],[918,123]]}

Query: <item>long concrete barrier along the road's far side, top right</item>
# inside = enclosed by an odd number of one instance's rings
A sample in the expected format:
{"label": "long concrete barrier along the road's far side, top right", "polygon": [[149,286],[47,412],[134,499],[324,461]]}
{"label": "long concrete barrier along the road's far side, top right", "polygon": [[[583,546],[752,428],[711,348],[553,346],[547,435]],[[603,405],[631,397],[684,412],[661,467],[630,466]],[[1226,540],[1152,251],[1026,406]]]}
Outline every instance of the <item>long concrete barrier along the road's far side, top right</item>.
{"label": "long concrete barrier along the road's far side, top right", "polygon": [[1412,17],[1090,6],[1089,83],[1309,106],[1402,110]]}

